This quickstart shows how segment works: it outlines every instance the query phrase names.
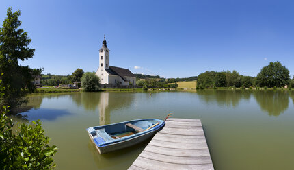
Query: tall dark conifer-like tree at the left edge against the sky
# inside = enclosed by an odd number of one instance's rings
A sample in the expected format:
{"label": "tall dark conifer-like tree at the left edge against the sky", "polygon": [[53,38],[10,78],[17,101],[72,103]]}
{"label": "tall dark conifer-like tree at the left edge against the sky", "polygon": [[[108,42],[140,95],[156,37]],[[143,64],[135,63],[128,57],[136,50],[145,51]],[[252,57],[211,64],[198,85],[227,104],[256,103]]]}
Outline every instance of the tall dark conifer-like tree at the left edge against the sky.
{"label": "tall dark conifer-like tree at the left edge against the sky", "polygon": [[3,27],[0,28],[0,73],[2,83],[5,86],[3,98],[6,105],[15,108],[25,102],[25,94],[22,89],[27,88],[29,92],[34,91],[32,85],[34,77],[33,69],[29,66],[19,66],[18,60],[27,60],[34,56],[35,49],[28,47],[31,39],[27,36],[27,32],[18,29],[21,21],[18,16],[21,15],[20,10],[12,12],[12,8],[7,10],[7,18],[3,21]]}

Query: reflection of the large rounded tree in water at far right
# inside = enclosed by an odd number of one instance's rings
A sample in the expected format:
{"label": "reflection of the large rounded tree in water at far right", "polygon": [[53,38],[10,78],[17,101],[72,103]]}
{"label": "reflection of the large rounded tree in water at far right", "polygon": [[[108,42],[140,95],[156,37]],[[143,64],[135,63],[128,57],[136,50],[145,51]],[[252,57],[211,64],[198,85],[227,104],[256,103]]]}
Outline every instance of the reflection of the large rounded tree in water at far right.
{"label": "reflection of the large rounded tree in water at far right", "polygon": [[270,116],[279,116],[289,105],[289,93],[280,90],[254,90],[260,108]]}

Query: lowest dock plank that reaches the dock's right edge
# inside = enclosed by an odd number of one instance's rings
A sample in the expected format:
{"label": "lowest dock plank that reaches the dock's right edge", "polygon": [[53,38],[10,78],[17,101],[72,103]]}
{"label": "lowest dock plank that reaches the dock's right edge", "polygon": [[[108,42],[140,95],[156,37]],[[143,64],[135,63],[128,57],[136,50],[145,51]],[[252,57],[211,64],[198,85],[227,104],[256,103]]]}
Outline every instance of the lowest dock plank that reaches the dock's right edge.
{"label": "lowest dock plank that reaches the dock's right edge", "polygon": [[199,169],[199,170],[209,170],[213,169],[212,164],[200,164],[200,165],[185,165],[185,164],[172,164],[167,162],[161,162],[158,160],[151,160],[148,158],[142,158],[139,156],[137,160],[133,163],[137,167],[142,167],[144,169],[166,169],[166,170],[173,170],[173,169]]}

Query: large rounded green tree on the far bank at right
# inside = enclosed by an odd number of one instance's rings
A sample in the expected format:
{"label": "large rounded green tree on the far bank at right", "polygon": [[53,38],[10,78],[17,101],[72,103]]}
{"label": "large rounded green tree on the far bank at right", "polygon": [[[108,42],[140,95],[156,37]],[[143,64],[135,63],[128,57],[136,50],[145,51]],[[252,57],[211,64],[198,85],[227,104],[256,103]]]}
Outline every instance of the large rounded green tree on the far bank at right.
{"label": "large rounded green tree on the far bank at right", "polygon": [[280,62],[270,62],[268,66],[263,66],[260,73],[256,76],[257,86],[267,86],[278,88],[289,85],[290,75],[286,66],[282,66]]}

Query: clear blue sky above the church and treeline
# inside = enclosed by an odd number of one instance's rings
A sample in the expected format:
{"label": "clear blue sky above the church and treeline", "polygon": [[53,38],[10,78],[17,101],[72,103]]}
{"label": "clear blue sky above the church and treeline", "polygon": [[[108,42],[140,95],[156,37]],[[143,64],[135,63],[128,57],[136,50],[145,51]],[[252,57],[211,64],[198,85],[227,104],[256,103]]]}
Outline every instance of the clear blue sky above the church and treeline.
{"label": "clear blue sky above the church and treeline", "polygon": [[256,76],[269,62],[294,75],[294,1],[15,1],[35,55],[23,66],[68,75],[96,71],[106,35],[111,66],[161,77],[205,71]]}

